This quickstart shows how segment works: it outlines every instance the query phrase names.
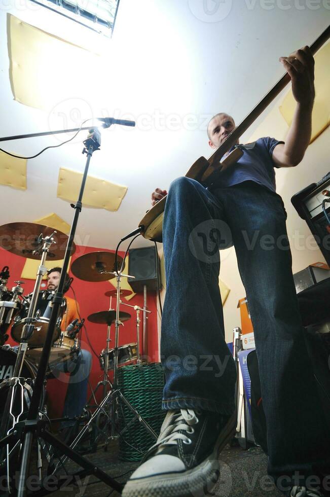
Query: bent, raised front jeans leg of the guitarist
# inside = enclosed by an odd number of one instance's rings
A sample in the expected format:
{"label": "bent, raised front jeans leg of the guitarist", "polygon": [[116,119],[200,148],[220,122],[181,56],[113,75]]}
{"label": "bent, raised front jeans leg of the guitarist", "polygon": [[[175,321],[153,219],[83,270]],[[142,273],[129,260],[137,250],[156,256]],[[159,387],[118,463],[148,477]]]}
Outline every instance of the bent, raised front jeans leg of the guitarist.
{"label": "bent, raised front jeans leg of the guitarist", "polygon": [[235,409],[236,369],[225,342],[219,252],[216,240],[208,237],[205,244],[203,236],[222,214],[221,203],[195,180],[180,177],[171,184],[163,220],[164,409],[201,408],[223,414]]}

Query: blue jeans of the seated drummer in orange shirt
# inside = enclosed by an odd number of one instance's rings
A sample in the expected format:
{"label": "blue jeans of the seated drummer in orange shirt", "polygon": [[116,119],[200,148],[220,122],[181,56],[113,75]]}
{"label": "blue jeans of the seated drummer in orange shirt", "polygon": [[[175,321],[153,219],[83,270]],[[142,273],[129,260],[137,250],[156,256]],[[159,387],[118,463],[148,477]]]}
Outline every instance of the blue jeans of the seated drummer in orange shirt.
{"label": "blue jeans of the seated drummer in orange shirt", "polygon": [[[52,366],[52,373],[70,373],[66,390],[63,416],[74,417],[82,413],[86,404],[88,377],[92,367],[92,356],[82,349],[74,359]],[[63,421],[62,427],[72,426],[75,421]]]}

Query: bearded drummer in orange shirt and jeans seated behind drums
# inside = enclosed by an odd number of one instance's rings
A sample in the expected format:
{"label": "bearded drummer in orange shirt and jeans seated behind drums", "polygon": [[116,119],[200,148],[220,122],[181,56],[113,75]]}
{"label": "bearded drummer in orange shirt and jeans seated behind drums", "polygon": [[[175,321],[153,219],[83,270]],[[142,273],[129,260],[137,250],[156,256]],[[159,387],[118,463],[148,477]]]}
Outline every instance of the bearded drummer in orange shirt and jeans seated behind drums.
{"label": "bearded drummer in orange shirt and jeans seated behind drums", "polygon": [[[54,292],[59,283],[61,268],[54,267],[47,273],[47,290]],[[68,279],[68,276],[66,280]],[[65,287],[65,285],[64,285]],[[65,289],[67,291],[68,289]],[[65,331],[72,321],[79,319],[79,304],[75,299],[65,297],[66,311],[61,323],[61,331]],[[92,367],[92,356],[88,350],[81,349],[78,354],[65,362],[52,366],[52,373],[69,372],[70,378],[67,386],[63,416],[72,418],[79,416],[86,404],[88,377]],[[74,421],[67,420],[62,422],[62,428],[70,427]]]}

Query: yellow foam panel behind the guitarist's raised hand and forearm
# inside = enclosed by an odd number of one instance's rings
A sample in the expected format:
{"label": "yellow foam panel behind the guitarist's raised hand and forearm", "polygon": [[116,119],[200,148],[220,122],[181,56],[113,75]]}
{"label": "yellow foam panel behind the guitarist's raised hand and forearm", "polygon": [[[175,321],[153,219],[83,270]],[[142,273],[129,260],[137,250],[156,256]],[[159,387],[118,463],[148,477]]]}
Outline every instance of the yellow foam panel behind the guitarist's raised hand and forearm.
{"label": "yellow foam panel behind the guitarist's raised hand and forearm", "polygon": [[[330,124],[330,43],[323,45],[315,54],[314,58],[315,101],[312,112],[312,137],[310,143],[312,143],[312,141],[314,141]],[[279,109],[285,122],[290,126],[296,109],[296,100],[294,99],[291,90],[285,95]]]}

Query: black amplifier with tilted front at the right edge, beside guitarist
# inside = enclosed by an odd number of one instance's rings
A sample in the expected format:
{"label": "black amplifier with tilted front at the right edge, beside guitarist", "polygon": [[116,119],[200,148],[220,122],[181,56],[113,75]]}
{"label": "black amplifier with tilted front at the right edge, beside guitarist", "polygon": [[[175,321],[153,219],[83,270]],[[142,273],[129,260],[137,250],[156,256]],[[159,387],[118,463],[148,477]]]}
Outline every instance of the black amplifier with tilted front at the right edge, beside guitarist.
{"label": "black amplifier with tilted front at the right edge, beside guitarist", "polygon": [[[324,215],[322,202],[330,197],[330,172],[318,183],[296,193],[291,202],[299,216],[306,221],[327,264],[330,265],[330,225]],[[324,205],[330,218],[330,203]]]}

